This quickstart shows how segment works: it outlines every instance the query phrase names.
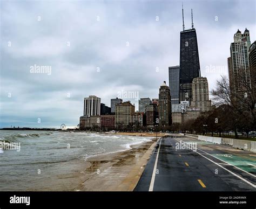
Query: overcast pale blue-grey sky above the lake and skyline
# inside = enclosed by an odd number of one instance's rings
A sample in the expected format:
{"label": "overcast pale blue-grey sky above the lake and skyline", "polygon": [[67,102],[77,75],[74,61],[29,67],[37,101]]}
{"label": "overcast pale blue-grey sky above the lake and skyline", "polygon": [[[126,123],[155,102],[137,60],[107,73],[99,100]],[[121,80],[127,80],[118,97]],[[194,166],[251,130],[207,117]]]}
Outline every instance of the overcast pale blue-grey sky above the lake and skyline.
{"label": "overcast pale blue-grey sky above the lake and skyline", "polygon": [[[256,40],[255,1],[183,1],[193,9],[201,76],[228,75],[237,30]],[[1,1],[0,128],[76,126],[84,97],[157,98],[179,65],[181,1]]]}

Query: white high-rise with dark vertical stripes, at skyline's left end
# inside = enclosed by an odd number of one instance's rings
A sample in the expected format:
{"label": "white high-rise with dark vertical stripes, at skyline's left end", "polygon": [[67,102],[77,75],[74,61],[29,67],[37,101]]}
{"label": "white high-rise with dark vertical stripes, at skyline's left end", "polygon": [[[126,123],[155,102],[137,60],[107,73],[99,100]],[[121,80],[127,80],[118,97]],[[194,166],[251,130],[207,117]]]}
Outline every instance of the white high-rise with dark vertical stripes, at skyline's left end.
{"label": "white high-rise with dark vertical stripes, at skyline's left end", "polygon": [[100,115],[100,98],[89,96],[84,98],[84,116]]}

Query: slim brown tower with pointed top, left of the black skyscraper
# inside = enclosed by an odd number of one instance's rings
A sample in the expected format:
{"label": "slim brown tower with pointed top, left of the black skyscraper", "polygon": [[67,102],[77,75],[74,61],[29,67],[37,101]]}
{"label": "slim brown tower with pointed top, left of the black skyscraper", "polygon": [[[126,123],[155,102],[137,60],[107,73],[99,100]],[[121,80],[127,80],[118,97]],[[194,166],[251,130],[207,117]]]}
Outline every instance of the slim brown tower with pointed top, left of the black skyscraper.
{"label": "slim brown tower with pointed top, left of the black skyscraper", "polygon": [[159,88],[159,125],[170,126],[172,124],[172,104],[170,88],[166,82]]}

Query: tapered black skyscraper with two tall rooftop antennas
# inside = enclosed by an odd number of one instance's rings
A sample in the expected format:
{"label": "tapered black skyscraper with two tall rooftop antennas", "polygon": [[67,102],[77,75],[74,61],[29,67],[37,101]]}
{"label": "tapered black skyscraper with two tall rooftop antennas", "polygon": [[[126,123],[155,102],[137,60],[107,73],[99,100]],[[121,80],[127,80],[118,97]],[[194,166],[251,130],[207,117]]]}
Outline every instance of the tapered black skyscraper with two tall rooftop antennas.
{"label": "tapered black skyscraper with two tall rooftop antennas", "polygon": [[196,29],[194,29],[193,15],[192,29],[188,30],[185,30],[183,17],[183,31],[180,32],[179,67],[179,101],[192,101],[192,80],[193,78],[201,76],[197,45],[197,33]]}

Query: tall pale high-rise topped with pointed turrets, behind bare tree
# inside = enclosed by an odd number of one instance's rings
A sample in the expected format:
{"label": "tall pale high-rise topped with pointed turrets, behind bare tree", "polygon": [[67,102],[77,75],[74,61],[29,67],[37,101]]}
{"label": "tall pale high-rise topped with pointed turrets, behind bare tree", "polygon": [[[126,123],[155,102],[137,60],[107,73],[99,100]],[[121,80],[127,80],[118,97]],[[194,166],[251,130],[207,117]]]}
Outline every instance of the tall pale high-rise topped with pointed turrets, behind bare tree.
{"label": "tall pale high-rise topped with pointed turrets, behind bare tree", "polygon": [[228,73],[230,78],[231,94],[241,93],[245,83],[251,84],[248,53],[251,46],[250,32],[245,29],[244,33],[237,31],[234,34],[234,42],[230,45],[228,58]]}

